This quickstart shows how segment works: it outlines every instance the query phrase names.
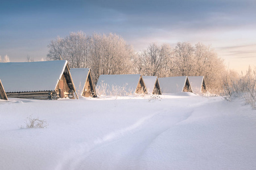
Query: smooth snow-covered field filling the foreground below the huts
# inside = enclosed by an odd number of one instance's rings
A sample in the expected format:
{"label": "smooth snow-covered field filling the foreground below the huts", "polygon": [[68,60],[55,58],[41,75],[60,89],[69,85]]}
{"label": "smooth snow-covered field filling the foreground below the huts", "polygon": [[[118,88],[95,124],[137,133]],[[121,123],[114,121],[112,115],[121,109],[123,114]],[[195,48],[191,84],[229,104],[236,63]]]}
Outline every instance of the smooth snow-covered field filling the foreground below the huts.
{"label": "smooth snow-covered field filling the foreground below the huts", "polygon": [[[256,169],[256,111],[189,93],[0,101],[0,169]],[[49,124],[21,129],[27,117]]]}

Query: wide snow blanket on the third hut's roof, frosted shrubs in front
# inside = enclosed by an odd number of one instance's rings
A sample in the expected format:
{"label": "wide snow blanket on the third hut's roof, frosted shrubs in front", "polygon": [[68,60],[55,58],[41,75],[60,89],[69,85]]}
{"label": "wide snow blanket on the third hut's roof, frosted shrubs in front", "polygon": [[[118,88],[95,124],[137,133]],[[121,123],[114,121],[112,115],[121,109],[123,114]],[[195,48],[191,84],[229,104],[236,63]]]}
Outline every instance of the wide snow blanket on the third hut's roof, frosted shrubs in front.
{"label": "wide snow blanket on the third hut's roof, frosted shrubs in front", "polygon": [[[115,74],[115,75],[100,75],[97,82],[97,89],[106,88],[106,95],[113,94],[114,90],[125,93],[134,93],[137,89],[141,74]],[[106,86],[106,87],[104,87]]]}

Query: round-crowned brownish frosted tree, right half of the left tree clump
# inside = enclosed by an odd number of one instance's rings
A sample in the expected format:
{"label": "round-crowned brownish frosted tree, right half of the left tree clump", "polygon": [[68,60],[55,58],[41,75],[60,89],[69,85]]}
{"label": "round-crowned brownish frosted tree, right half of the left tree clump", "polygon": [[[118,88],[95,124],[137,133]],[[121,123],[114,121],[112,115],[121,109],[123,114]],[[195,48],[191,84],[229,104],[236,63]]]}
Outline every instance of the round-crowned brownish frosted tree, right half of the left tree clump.
{"label": "round-crowned brownish frosted tree, right half of the left tree clump", "polygon": [[96,75],[129,74],[134,50],[121,36],[94,33],[89,41],[90,66]]}

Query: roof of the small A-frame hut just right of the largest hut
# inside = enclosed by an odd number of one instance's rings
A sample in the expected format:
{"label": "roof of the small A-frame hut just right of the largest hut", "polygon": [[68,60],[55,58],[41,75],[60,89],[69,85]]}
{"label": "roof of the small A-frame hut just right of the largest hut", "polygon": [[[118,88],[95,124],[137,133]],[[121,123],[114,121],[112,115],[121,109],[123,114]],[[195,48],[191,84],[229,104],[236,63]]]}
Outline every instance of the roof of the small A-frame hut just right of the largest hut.
{"label": "roof of the small A-frame hut just right of the largest hut", "polygon": [[[73,79],[73,82],[76,87],[76,91],[79,92],[78,95],[81,95],[84,88],[86,80],[89,79],[91,82],[90,86],[92,87],[92,91],[95,92],[92,75],[90,74],[90,69],[88,68],[72,68],[70,69],[71,76]],[[90,75],[90,76],[89,76]]]}

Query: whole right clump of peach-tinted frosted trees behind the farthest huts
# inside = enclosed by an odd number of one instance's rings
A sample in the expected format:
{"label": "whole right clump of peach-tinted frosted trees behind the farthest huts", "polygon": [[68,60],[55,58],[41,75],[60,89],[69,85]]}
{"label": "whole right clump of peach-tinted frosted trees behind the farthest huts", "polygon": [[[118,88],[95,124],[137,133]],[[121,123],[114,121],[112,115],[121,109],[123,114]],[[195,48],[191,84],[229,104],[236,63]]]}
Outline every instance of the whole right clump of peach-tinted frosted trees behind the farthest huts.
{"label": "whole right clump of peach-tinted frosted trees behind the farthest huts", "polygon": [[175,48],[168,44],[150,44],[135,59],[136,72],[143,75],[205,76],[209,89],[220,91],[224,61],[210,46],[201,43],[178,42]]}

